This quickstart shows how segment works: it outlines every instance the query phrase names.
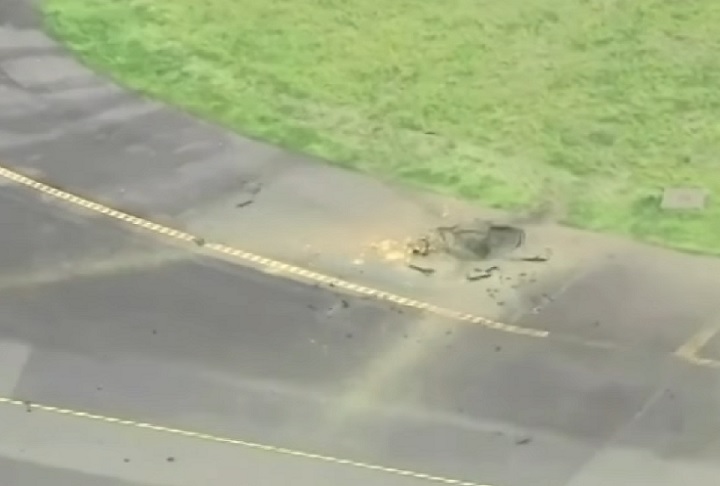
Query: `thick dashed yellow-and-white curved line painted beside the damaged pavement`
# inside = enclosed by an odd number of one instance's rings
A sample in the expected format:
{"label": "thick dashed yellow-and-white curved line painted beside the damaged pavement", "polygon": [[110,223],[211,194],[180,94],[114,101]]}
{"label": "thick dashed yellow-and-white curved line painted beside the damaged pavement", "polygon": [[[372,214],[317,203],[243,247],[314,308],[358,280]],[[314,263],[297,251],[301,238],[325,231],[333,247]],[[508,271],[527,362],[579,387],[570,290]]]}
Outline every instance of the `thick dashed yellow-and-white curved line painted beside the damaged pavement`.
{"label": "thick dashed yellow-and-white curved line painted beside the damaged pavement", "polygon": [[153,221],[140,218],[138,216],[133,216],[117,209],[113,209],[95,201],[91,201],[75,194],[60,190],[49,184],[32,179],[6,167],[0,166],[0,177],[3,177],[9,181],[15,182],[47,196],[51,196],[57,200],[67,202],[69,204],[84,208],[91,212],[101,214],[103,216],[115,219],[117,221],[121,221],[137,228],[141,228],[145,231],[159,234],[165,236],[166,238],[174,239],[176,241],[192,243],[196,247],[202,247],[203,249],[211,253],[230,257],[235,262],[243,263],[245,264],[245,266],[253,266],[256,268],[260,268],[266,272],[289,275],[291,277],[299,278],[301,280],[324,284],[332,288],[344,290],[346,292],[359,294],[366,297],[372,297],[378,300],[391,302],[393,304],[417,309],[423,312],[429,312],[458,321],[478,324],[480,326],[494,329],[497,331],[503,331],[511,334],[529,336],[534,338],[546,338],[550,335],[549,331],[530,329],[526,327],[515,326],[513,324],[506,324],[494,321],[467,312],[448,309],[445,307],[430,304],[428,302],[422,302],[408,297],[403,297],[401,295],[393,294],[391,292],[386,292],[384,290],[356,284],[347,280],[325,275],[314,270],[308,270],[306,268],[298,267],[289,263],[284,263],[278,260],[274,260],[272,258],[256,255],[254,253],[244,251],[239,248],[234,248],[232,246],[222,243],[206,242],[200,236],[193,235],[185,231],[180,231],[175,228],[170,228],[168,226],[155,223]]}

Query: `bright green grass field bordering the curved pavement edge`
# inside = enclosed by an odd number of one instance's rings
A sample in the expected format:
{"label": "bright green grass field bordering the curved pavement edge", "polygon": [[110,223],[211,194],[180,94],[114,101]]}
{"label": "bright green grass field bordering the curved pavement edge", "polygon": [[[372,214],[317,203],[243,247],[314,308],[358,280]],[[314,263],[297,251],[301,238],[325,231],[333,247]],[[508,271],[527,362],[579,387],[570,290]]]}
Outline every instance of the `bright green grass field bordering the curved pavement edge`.
{"label": "bright green grass field bordering the curved pavement edge", "polygon": [[[720,254],[718,0],[46,0],[128,86],[482,204]],[[707,209],[658,209],[665,186]]]}

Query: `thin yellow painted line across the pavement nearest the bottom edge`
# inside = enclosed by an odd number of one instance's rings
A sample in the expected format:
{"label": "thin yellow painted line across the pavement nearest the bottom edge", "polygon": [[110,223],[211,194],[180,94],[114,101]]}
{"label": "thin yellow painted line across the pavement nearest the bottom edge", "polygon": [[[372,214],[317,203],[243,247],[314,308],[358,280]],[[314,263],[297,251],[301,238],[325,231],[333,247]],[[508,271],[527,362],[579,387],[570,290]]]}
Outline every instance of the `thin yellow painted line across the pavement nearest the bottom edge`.
{"label": "thin yellow painted line across the pavement nearest the bottom edge", "polygon": [[370,464],[361,461],[354,461],[351,459],[342,459],[333,456],[326,456],[322,454],[315,454],[312,452],[303,452],[295,449],[288,449],[285,447],[278,447],[268,444],[260,444],[257,442],[249,442],[241,439],[232,439],[229,437],[221,437],[212,434],[205,434],[202,432],[194,432],[184,429],[176,429],[172,427],[165,427],[162,425],[150,424],[147,422],[139,422],[136,420],[122,419],[117,417],[108,417],[105,415],[99,415],[91,412],[83,412],[79,410],[71,410],[68,408],[55,407],[52,405],[42,405],[39,403],[30,402],[27,400],[17,400],[14,398],[0,397],[0,404],[11,405],[15,407],[25,407],[29,412],[38,410],[42,412],[54,413],[57,415],[67,415],[71,417],[81,418],[85,420],[92,420],[96,422],[105,422],[115,425],[121,425],[125,427],[132,427],[136,429],[152,430],[154,432],[172,434],[182,437],[188,437],[191,439],[204,440],[207,442],[215,442],[222,444],[230,444],[234,446],[245,447],[248,449],[260,450],[264,452],[272,452],[276,454],[282,454],[286,456],[301,457],[304,459],[312,459],[316,461],[328,462],[333,464],[340,464],[345,466],[351,466],[360,469],[366,469],[371,471],[378,471],[383,473],[394,474],[396,476],[406,476],[416,479],[422,479],[428,482],[448,484],[452,486],[490,486],[488,484],[474,483],[472,481],[464,481],[461,479],[452,479],[442,476],[434,476],[431,474],[425,474],[421,472],[409,471],[406,469],[397,469],[393,467],[380,466],[377,464]]}

